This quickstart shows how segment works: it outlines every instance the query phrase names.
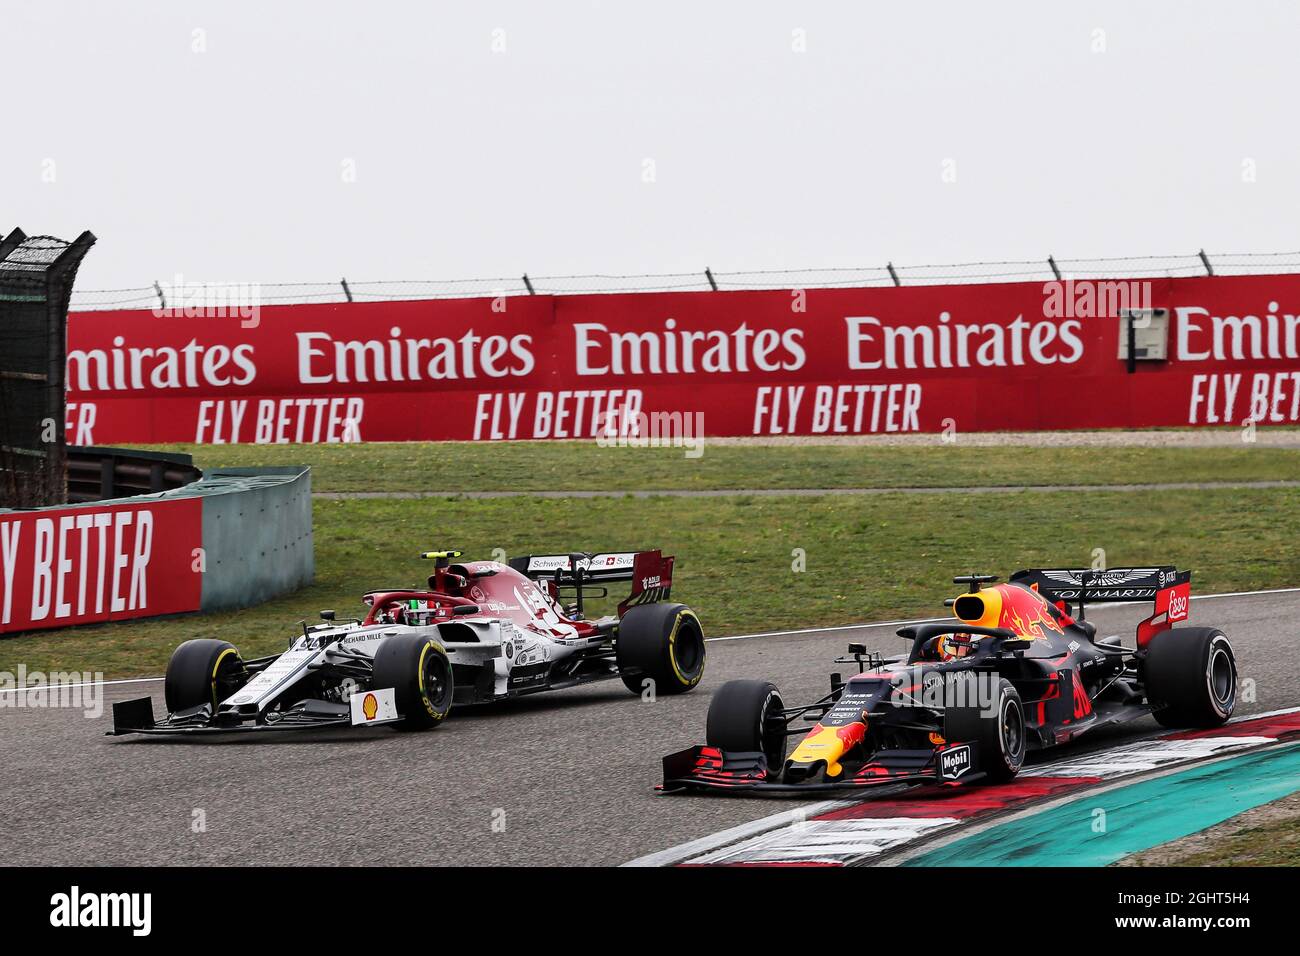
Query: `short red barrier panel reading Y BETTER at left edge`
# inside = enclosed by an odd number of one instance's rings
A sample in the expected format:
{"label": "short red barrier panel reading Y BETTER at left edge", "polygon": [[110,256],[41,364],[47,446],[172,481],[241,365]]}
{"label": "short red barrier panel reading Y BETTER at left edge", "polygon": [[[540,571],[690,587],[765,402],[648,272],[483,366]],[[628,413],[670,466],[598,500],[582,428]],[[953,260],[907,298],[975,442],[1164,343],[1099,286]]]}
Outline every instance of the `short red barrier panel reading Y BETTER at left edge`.
{"label": "short red barrier panel reading Y BETTER at left edge", "polygon": [[199,498],[0,511],[0,633],[199,610]]}

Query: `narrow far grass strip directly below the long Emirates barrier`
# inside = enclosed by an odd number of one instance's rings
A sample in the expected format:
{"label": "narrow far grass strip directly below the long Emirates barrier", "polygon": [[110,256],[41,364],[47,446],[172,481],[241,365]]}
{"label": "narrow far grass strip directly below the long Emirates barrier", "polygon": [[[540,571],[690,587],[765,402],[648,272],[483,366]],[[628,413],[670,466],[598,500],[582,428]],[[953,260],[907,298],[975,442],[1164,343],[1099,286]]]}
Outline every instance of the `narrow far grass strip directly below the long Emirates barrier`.
{"label": "narrow far grass strip directly below the long Emirates barrier", "polygon": [[1127,485],[1300,477],[1300,449],[710,445],[599,447],[594,442],[165,445],[200,468],[308,464],[315,492],[733,490]]}

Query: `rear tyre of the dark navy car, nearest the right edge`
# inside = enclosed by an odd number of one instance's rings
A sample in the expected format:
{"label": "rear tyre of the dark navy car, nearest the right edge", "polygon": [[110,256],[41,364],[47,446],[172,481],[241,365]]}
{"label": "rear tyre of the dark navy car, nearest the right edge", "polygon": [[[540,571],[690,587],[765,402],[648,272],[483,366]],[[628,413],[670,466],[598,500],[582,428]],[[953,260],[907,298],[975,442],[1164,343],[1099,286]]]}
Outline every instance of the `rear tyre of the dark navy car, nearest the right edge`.
{"label": "rear tyre of the dark navy car, nearest the right edge", "polygon": [[1236,658],[1213,627],[1174,627],[1147,645],[1147,700],[1164,727],[1218,727],[1236,706]]}

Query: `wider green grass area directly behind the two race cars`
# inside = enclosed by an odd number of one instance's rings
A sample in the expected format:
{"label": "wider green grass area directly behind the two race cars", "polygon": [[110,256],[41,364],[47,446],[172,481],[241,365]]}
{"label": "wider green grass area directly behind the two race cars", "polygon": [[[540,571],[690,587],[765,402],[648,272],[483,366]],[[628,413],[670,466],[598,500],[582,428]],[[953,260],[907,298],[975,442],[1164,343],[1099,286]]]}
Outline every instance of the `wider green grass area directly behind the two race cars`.
{"label": "wider green grass area directly behind the two race cars", "polygon": [[[662,548],[677,555],[673,597],[710,636],[939,615],[954,574],[1087,567],[1097,549],[1112,567],[1192,568],[1192,593],[1300,584],[1300,489],[317,499],[313,520],[309,588],[240,611],[0,640],[0,671],[161,674],[188,637],[270,653],[321,607],[358,614],[364,591],[421,581],[430,568],[416,555],[439,548],[471,559]],[[1214,605],[1193,605],[1192,620],[1214,623]]]}

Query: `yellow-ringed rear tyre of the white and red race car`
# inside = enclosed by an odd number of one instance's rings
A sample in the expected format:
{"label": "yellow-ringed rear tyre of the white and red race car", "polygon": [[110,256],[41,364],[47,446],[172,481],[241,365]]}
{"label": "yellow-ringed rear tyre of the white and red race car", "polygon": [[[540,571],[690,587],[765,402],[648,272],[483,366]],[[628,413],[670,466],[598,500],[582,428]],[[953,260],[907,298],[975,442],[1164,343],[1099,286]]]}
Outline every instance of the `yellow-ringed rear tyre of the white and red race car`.
{"label": "yellow-ringed rear tyre of the white and red race car", "polygon": [[644,604],[619,622],[619,676],[632,693],[685,693],[705,675],[705,632],[684,604]]}

